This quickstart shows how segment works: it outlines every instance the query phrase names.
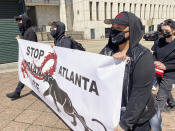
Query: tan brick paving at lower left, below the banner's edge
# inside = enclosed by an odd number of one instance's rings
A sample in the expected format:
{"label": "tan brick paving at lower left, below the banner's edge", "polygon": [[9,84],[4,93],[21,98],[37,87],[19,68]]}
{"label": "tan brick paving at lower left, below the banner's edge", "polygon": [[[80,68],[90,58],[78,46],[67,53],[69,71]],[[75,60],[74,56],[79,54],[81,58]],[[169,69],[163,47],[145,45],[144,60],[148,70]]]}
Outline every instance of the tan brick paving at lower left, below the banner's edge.
{"label": "tan brick paving at lower left, below the banner's edge", "polygon": [[31,89],[24,87],[21,98],[15,101],[5,96],[15,89],[17,72],[1,73],[0,83],[1,131],[69,131]]}

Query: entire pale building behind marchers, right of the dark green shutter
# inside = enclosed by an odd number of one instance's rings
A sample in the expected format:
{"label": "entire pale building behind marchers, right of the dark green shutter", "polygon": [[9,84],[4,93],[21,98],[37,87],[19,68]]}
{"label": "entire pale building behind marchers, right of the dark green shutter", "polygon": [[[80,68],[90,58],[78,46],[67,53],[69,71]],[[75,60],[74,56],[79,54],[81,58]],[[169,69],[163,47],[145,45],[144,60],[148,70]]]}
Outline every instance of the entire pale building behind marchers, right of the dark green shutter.
{"label": "entire pale building behind marchers, right of the dark green shutter", "polygon": [[175,0],[26,0],[26,6],[29,14],[30,8],[35,8],[36,16],[32,17],[38,27],[49,30],[49,21],[60,20],[67,31],[84,32],[85,39],[107,37],[111,25],[104,20],[122,11],[138,16],[145,32],[157,30],[165,19],[175,19]]}

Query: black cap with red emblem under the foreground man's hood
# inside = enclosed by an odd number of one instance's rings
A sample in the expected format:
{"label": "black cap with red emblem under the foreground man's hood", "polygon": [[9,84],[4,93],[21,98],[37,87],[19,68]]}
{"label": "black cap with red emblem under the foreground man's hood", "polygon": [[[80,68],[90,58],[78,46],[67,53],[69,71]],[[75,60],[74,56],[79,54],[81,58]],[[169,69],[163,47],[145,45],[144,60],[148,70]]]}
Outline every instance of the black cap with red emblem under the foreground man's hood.
{"label": "black cap with red emblem under the foreground man's hood", "polygon": [[114,19],[104,20],[105,24],[117,23],[119,25],[129,25],[129,17],[126,12],[119,13]]}

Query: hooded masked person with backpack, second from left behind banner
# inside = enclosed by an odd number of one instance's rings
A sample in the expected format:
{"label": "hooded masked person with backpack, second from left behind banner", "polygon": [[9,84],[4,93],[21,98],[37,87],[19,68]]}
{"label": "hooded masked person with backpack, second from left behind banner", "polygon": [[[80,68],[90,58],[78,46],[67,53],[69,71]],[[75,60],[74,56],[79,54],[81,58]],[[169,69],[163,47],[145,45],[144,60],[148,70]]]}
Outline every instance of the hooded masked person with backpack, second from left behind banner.
{"label": "hooded masked person with backpack, second from left behind banner", "polygon": [[52,46],[59,46],[69,49],[77,49],[85,51],[83,46],[72,40],[70,37],[65,37],[65,24],[60,21],[49,22],[50,34],[54,38],[54,44]]}

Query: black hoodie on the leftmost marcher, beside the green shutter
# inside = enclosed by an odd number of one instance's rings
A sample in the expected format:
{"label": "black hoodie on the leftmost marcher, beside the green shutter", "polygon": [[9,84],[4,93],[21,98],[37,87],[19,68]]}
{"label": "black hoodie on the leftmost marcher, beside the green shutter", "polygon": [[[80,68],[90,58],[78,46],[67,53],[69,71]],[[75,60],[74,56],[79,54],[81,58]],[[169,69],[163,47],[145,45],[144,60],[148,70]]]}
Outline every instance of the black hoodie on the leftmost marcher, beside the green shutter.
{"label": "black hoodie on the leftmost marcher, beside the green shutter", "polygon": [[20,32],[25,40],[37,42],[36,33],[32,29],[32,21],[25,15],[22,15],[22,31]]}

